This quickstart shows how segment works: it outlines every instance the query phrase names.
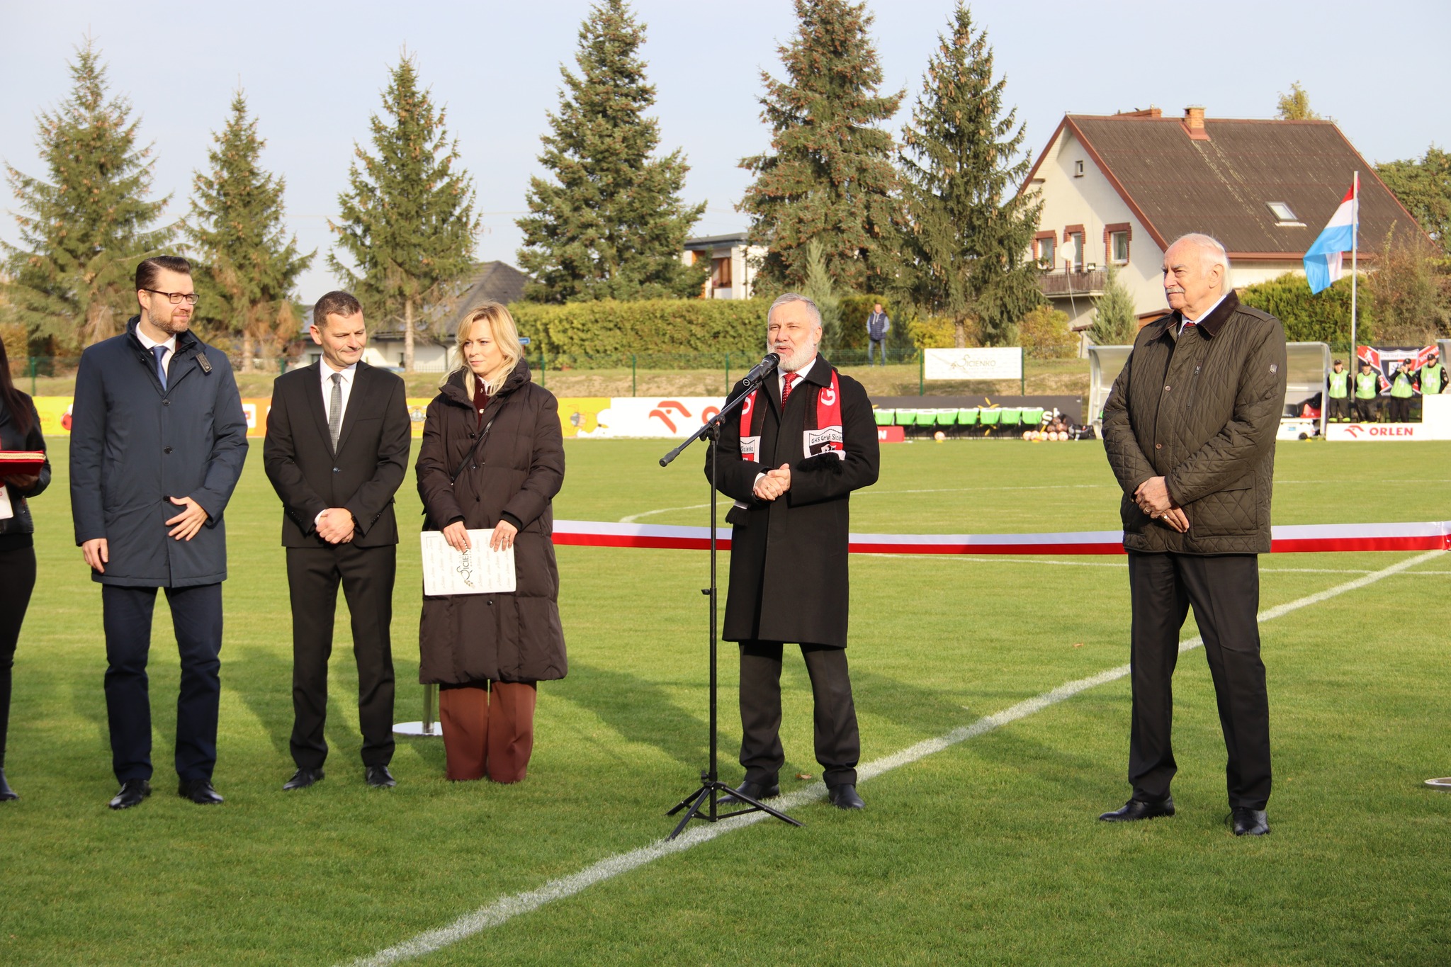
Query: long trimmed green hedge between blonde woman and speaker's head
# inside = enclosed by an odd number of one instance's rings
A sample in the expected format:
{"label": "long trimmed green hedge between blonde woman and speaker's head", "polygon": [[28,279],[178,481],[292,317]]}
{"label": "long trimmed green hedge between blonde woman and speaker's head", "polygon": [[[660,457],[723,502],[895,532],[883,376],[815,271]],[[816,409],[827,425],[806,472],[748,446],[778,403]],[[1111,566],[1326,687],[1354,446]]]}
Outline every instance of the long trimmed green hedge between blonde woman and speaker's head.
{"label": "long trimmed green hedge between blonde woman and speaker's head", "polygon": [[509,306],[527,354],[548,357],[550,368],[630,365],[631,357],[762,354],[766,309],[760,299],[644,299]]}

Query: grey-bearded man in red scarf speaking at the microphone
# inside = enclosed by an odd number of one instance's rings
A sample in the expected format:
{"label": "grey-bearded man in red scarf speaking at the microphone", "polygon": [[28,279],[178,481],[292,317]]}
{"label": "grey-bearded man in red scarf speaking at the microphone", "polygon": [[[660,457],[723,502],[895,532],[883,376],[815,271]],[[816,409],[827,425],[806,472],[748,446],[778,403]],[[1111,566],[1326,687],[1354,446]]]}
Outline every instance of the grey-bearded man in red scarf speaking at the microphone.
{"label": "grey-bearded man in red scarf speaking at the microphone", "polygon": [[[815,755],[831,805],[860,809],[860,736],[846,667],[847,502],[876,483],[872,403],[862,384],[817,354],[821,315],[786,293],[766,313],[766,342],[781,357],[720,439],[720,491],[736,502],[726,641],[740,642],[739,787],[781,794],[782,645],[801,645],[815,702]],[[740,396],[744,380],[731,390]],[[705,477],[711,477],[711,451]],[[726,797],[723,802],[736,802]]]}

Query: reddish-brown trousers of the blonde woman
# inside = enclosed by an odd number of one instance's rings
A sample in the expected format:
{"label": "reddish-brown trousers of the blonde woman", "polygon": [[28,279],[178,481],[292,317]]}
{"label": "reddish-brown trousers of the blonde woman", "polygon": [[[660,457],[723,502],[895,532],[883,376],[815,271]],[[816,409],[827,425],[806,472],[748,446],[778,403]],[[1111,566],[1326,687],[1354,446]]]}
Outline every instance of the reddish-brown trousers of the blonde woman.
{"label": "reddish-brown trousers of the blonde woman", "polygon": [[534,751],[533,681],[472,681],[438,689],[438,723],[444,728],[444,776],[517,783],[528,773]]}

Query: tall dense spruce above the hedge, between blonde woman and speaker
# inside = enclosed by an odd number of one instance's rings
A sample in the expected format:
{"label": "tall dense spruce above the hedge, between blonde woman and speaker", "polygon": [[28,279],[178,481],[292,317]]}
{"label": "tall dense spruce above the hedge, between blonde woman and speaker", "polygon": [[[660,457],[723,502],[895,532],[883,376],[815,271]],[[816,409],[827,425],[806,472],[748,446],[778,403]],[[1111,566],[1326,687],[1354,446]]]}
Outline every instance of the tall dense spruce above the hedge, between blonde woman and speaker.
{"label": "tall dense spruce above the hedge, between blonde woman and speaker", "polygon": [[579,28],[576,75],[560,65],[564,90],[551,113],[543,164],[553,181],[531,178],[519,265],[535,302],[699,296],[708,261],[681,254],[705,204],[681,200],[689,165],[681,149],[651,157],[660,126],[640,59],[644,25],[624,0],[602,0]]}

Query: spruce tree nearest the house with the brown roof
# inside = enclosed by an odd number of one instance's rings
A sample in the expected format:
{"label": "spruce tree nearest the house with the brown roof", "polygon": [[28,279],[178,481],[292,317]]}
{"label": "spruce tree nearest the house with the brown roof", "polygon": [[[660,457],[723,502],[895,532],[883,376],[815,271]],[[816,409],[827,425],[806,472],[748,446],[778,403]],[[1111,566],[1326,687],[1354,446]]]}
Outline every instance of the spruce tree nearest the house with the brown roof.
{"label": "spruce tree nearest the house with the brown roof", "polygon": [[987,32],[966,4],[939,35],[901,151],[900,286],[924,315],[948,316],[956,345],[977,319],[984,345],[1011,345],[1042,303],[1027,252],[1040,203],[1014,184],[1027,174],[1017,109],[1003,110]]}

